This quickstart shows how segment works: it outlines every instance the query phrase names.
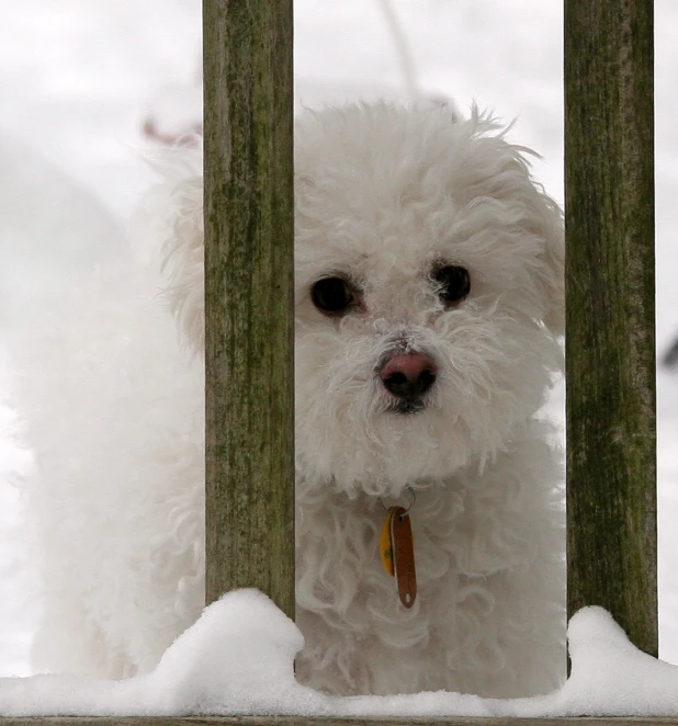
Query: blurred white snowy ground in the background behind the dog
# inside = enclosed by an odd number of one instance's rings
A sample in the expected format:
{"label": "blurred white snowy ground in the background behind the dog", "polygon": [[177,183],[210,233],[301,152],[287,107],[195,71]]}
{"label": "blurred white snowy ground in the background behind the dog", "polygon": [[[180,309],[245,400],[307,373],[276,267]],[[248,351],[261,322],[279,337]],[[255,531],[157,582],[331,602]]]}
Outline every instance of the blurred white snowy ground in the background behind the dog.
{"label": "blurred white snowy ground in the background behind the dog", "polygon": [[[475,99],[504,117],[518,116],[513,138],[544,156],[536,174],[562,200],[562,3],[393,3],[420,84],[453,97],[461,107]],[[678,332],[678,139],[671,123],[678,111],[678,5],[656,0],[655,8],[662,351]],[[166,118],[200,114],[191,90],[199,64],[200,2],[0,0],[0,303],[11,311],[29,284],[25,271],[38,259],[41,274],[52,275],[61,265],[87,262],[92,246],[124,253],[120,230],[150,180],[137,154],[147,144],[140,129],[149,109],[163,109]],[[302,100],[402,87],[376,0],[296,0],[295,13]],[[19,145],[30,150],[19,155],[25,161],[18,167]],[[3,303],[5,294],[12,299]],[[678,451],[673,445],[678,374],[659,372],[658,400],[662,655],[678,662],[678,528],[673,525],[678,515]],[[10,428],[10,412],[1,411],[0,674],[23,674],[35,613],[25,606],[31,582],[30,560],[20,546],[25,525],[9,484],[26,455],[2,436]]]}

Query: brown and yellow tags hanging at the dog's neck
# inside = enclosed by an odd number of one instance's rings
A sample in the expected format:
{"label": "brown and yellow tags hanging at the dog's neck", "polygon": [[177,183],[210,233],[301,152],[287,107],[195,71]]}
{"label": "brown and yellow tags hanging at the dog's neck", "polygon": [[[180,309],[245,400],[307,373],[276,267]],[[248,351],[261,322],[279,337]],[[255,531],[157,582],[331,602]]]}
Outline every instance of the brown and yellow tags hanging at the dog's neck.
{"label": "brown and yellow tags hanging at the dog's neck", "polygon": [[405,608],[411,608],[417,598],[415,546],[409,517],[403,507],[392,507],[386,514],[380,555],[384,569],[396,578],[400,602]]}

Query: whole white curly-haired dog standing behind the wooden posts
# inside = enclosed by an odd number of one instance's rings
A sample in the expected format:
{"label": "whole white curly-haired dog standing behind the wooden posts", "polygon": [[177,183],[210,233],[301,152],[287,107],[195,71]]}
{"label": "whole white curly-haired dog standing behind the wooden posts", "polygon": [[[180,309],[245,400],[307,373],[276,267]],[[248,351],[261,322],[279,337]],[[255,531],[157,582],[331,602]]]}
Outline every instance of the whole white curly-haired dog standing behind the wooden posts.
{"label": "whole white curly-haired dog standing behind the wooden posts", "polygon": [[[295,154],[297,678],[546,692],[564,531],[534,415],[561,366],[560,211],[477,112],[306,112]],[[203,606],[201,166],[166,169],[161,249],[74,283],[24,341],[42,669],[148,670]],[[380,532],[413,500],[405,608]]]}

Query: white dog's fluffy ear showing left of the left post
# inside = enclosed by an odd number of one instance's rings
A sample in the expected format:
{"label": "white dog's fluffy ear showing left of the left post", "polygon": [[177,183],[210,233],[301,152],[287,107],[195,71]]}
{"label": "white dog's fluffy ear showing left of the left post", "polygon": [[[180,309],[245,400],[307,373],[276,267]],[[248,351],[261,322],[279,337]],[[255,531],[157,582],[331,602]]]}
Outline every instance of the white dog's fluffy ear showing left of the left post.
{"label": "white dog's fluffy ear showing left of the left post", "polygon": [[149,193],[145,212],[154,217],[160,243],[162,294],[190,349],[203,355],[205,345],[203,151],[193,148],[162,152],[152,166],[161,183]]}

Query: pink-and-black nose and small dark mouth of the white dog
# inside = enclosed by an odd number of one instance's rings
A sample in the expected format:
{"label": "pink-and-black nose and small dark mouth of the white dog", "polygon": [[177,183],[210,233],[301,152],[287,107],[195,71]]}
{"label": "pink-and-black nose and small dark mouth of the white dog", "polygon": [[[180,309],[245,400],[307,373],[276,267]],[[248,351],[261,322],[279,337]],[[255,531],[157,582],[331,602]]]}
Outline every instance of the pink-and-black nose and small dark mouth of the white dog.
{"label": "pink-and-black nose and small dark mouth of the white dog", "polygon": [[425,407],[423,396],[436,383],[438,366],[420,352],[395,352],[377,368],[384,388],[393,396],[391,409],[416,413]]}

